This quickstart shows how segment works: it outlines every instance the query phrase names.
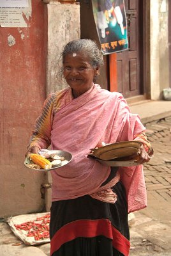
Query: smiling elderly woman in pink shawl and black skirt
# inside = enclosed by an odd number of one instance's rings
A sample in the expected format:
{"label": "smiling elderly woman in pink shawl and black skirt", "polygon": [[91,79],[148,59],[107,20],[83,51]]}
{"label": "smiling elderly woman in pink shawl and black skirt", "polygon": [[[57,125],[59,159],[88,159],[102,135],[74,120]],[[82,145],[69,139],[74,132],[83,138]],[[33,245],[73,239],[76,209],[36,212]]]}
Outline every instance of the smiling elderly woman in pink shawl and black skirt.
{"label": "smiling elderly woman in pink shawl and black skirt", "polygon": [[[146,205],[142,164],[152,148],[121,93],[94,84],[103,64],[95,42],[69,42],[62,58],[69,87],[45,100],[26,153],[51,145],[73,155],[69,164],[51,172],[51,255],[128,256],[128,212]],[[87,157],[103,141],[128,140],[142,142],[138,166],[110,168]]]}

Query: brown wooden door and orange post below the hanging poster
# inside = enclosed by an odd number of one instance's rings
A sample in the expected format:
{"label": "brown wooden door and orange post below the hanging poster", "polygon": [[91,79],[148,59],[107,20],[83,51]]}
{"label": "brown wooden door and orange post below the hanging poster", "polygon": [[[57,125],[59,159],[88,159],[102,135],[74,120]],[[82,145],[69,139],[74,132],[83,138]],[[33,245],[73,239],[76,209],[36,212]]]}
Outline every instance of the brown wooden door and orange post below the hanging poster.
{"label": "brown wooden door and orange post below the hanging poster", "polygon": [[125,98],[144,95],[143,2],[124,0],[129,49],[109,56],[110,90],[122,93]]}

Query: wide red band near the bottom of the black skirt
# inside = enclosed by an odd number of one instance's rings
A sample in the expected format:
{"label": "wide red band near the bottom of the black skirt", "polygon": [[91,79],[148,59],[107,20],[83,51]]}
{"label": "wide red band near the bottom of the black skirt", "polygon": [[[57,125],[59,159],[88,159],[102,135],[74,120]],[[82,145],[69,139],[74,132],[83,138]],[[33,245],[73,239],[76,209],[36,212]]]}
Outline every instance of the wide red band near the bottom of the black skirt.
{"label": "wide red band near the bottom of the black skirt", "polygon": [[105,236],[112,239],[112,246],[128,256],[130,252],[130,241],[126,239],[109,220],[77,220],[68,223],[57,230],[50,241],[50,255],[59,250],[59,248],[68,241],[77,237],[96,237]]}

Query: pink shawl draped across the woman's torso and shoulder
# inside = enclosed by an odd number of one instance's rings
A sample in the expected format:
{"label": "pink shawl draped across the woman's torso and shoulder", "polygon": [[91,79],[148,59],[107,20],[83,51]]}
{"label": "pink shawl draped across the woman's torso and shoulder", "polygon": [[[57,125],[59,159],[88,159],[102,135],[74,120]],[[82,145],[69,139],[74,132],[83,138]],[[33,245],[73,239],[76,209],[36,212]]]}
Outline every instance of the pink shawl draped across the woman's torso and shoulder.
{"label": "pink shawl draped across the woman's torso and shoulder", "polygon": [[[70,98],[66,89],[64,97]],[[66,102],[63,99],[63,102]],[[52,150],[71,152],[69,164],[52,172],[52,201],[77,198],[96,192],[107,179],[110,167],[87,158],[90,148],[105,143],[133,140],[133,134],[145,130],[138,115],[130,113],[121,93],[111,93],[98,84],[64,103],[54,116],[51,132]],[[126,188],[128,211],[146,205],[142,166],[119,168]]]}

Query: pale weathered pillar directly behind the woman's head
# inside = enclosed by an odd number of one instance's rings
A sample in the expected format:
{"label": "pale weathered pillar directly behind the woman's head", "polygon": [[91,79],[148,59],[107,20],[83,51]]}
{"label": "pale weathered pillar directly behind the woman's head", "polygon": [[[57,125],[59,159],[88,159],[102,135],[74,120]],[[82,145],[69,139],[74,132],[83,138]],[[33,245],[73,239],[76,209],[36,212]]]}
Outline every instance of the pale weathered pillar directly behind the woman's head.
{"label": "pale weathered pillar directly behind the woman's head", "polygon": [[66,86],[58,76],[60,54],[65,44],[80,38],[79,4],[50,1],[48,10],[47,94]]}

